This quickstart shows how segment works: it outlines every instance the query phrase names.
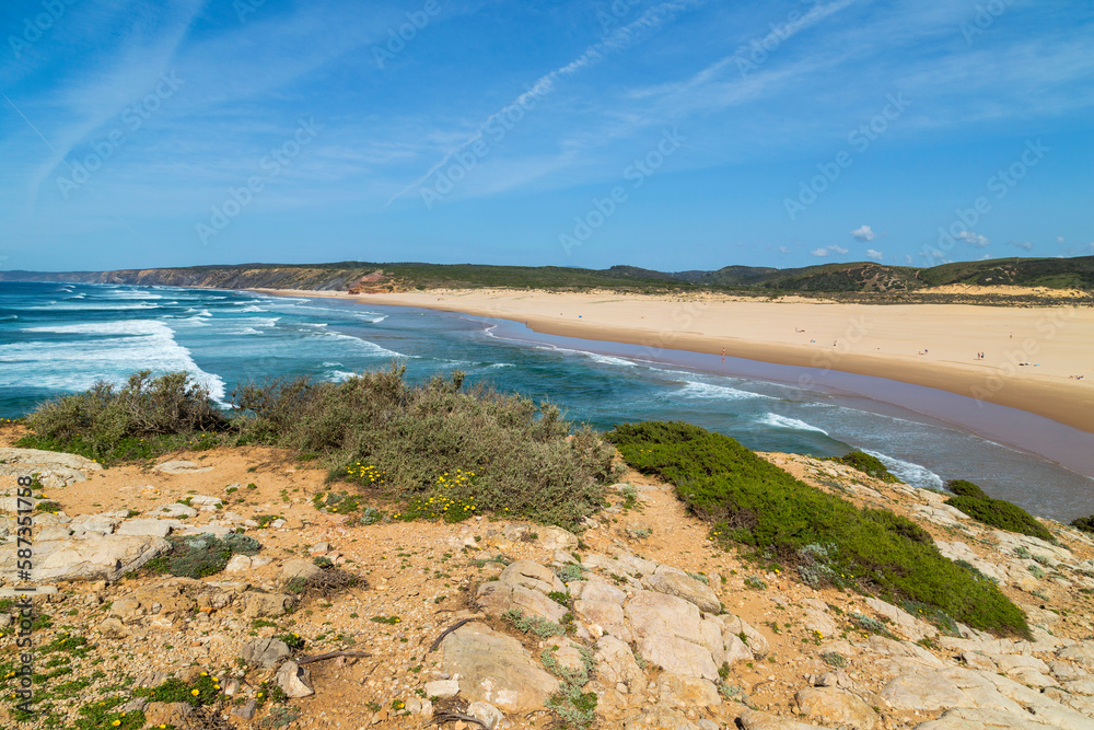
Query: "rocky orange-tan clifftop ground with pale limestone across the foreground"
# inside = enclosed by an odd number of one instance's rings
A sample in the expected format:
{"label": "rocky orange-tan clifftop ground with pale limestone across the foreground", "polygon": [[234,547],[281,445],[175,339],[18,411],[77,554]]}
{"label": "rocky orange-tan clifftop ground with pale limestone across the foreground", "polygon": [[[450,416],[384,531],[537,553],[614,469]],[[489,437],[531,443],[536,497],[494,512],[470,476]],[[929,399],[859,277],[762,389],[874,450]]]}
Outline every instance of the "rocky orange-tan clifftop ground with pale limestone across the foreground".
{"label": "rocky orange-tan clifftop ground with pale limestone across the foreground", "polygon": [[[1055,545],[1002,533],[932,491],[766,457],[915,519],[945,555],[999,581],[1033,640],[940,631],[898,606],[763,571],[714,547],[670,486],[633,472],[572,534],[491,517],[393,521],[383,512],[396,506],[384,505],[364,524],[372,512],[339,514],[314,499],[331,489],[324,471],[269,449],[109,470],[0,449],[3,595],[25,584],[15,580],[15,475],[39,473],[47,508],[34,529],[43,711],[33,723],[1094,728],[1085,535],[1055,522],[1045,523]],[[216,575],[144,565],[168,537],[241,532],[261,549]],[[0,726],[11,728],[20,617],[3,605]]]}

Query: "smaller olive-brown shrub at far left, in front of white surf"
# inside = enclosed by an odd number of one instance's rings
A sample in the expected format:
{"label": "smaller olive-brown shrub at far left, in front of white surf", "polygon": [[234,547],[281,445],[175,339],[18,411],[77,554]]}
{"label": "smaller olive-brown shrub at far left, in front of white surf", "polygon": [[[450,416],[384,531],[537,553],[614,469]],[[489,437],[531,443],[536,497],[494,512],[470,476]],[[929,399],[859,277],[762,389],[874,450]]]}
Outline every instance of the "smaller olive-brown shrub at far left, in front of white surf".
{"label": "smaller olive-brown shrub at far left, in front of white surf", "polygon": [[121,387],[100,381],[83,393],[43,403],[26,425],[33,433],[21,439],[24,445],[120,461],[179,449],[188,439],[208,448],[212,437],[205,432],[224,431],[228,419],[188,373],[153,378],[141,370]]}

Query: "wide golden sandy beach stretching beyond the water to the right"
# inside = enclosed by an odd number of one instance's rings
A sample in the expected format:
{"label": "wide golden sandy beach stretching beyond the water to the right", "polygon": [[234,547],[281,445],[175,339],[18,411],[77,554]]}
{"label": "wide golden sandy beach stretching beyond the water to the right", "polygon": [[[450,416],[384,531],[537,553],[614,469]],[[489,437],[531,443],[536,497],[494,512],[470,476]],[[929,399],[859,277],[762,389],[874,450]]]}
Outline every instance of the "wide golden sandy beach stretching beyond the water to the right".
{"label": "wide golden sandy beach stretching beyond the water to the right", "polygon": [[[524,322],[536,332],[875,375],[1094,432],[1094,309],[839,304],[707,296],[257,290]],[[982,352],[982,359],[979,354]],[[1078,376],[1083,376],[1079,380]]]}

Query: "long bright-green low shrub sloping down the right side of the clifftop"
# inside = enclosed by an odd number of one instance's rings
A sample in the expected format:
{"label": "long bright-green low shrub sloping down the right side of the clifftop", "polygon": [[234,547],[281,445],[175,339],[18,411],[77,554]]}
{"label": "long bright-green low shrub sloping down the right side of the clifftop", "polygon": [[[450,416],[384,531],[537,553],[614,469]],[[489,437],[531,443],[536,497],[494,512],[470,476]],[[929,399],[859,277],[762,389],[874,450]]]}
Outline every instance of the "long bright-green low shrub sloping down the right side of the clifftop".
{"label": "long bright-green low shrub sloping down the right side of the clifftop", "polygon": [[631,466],[674,484],[689,511],[714,523],[723,541],[770,551],[793,567],[806,564],[803,548],[821,546],[824,556],[806,552],[812,565],[859,590],[933,606],[982,630],[1028,636],[1025,616],[994,584],[943,557],[906,518],[858,509],[690,424],[628,424],[606,438]]}

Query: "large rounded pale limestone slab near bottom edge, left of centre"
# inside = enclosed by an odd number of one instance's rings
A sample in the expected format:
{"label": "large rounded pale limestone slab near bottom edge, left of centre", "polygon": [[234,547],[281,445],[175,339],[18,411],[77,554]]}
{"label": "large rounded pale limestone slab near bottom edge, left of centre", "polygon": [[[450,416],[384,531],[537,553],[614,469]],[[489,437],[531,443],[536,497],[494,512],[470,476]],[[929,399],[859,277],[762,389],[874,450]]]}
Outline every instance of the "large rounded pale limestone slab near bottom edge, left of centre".
{"label": "large rounded pale limestone slab near bottom edge, left of centre", "polygon": [[459,694],[486,702],[504,712],[538,707],[558,692],[558,681],[545,672],[516,639],[473,622],[444,637],[442,670],[458,675]]}

